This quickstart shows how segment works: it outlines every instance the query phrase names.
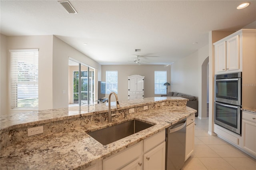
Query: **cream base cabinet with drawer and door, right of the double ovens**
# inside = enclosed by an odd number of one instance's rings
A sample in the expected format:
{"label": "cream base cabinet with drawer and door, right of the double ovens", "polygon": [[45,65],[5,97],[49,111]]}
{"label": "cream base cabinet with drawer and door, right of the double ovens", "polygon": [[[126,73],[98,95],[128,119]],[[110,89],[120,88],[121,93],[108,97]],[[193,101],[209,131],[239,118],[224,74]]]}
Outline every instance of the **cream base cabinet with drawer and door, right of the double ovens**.
{"label": "cream base cabinet with drawer and door, right of the double ovens", "polygon": [[256,156],[256,114],[242,112],[243,149]]}

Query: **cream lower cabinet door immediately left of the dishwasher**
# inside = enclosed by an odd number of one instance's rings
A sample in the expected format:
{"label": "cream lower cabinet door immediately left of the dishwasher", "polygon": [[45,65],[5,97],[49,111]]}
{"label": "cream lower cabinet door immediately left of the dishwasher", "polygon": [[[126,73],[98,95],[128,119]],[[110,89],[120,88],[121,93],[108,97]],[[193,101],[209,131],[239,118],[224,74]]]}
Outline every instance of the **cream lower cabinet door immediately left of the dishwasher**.
{"label": "cream lower cabinet door immediately left of the dishwasher", "polygon": [[164,170],[165,169],[165,142],[156,146],[143,155],[144,170]]}

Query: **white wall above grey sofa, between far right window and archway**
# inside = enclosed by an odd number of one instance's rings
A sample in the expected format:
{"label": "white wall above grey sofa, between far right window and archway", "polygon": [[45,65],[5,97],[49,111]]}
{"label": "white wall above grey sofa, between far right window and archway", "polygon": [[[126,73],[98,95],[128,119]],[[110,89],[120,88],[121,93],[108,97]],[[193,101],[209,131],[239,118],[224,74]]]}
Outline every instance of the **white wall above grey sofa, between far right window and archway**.
{"label": "white wall above grey sofa, between far right window and archway", "polygon": [[198,97],[198,51],[171,65],[171,91]]}

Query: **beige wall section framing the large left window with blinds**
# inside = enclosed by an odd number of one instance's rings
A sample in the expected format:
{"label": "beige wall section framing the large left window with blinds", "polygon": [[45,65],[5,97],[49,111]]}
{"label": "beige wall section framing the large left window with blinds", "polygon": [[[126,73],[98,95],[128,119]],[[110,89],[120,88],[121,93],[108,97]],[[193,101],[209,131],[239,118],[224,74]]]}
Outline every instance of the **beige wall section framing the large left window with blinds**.
{"label": "beige wall section framing the large left window with blinds", "polygon": [[[7,40],[9,49],[39,49],[38,60],[38,101],[39,110],[52,109],[52,35],[50,36],[10,36]],[[10,70],[10,52],[8,51],[8,68]],[[9,71],[8,71],[9,72]],[[10,75],[8,74],[8,77]],[[8,79],[10,83],[10,79]],[[9,86],[8,86],[9,87]],[[8,96],[10,89],[8,88]],[[10,100],[10,97],[9,97]],[[8,104],[8,106],[10,103]]]}

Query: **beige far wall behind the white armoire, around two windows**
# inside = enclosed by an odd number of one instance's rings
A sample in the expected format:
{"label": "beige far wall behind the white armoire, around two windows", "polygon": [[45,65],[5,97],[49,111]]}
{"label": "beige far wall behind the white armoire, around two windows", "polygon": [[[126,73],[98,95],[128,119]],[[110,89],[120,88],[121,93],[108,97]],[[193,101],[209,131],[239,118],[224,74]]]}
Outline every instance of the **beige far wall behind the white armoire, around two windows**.
{"label": "beige far wall behind the white armoire, around two windows", "polygon": [[[154,71],[167,71],[167,81],[170,82],[170,66],[165,65],[102,65],[102,81],[106,80],[106,71],[118,71],[118,99],[128,100],[128,76],[142,75],[144,80],[144,97],[155,97]],[[170,91],[170,86],[168,86]]]}

